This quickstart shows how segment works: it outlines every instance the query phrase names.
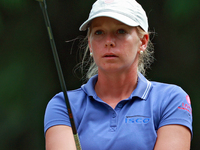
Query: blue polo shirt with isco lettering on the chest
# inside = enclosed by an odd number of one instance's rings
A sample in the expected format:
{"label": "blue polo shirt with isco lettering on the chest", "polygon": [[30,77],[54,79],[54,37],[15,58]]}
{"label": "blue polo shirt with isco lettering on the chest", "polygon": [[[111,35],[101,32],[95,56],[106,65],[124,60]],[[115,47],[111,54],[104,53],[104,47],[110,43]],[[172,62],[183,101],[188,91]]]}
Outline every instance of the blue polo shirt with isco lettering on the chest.
{"label": "blue polo shirt with isco lettering on the chest", "polygon": [[[191,102],[180,87],[150,82],[139,74],[136,89],[113,109],[96,95],[97,79],[68,92],[83,150],[152,150],[157,130],[169,124],[186,126],[192,133]],[[62,92],[47,105],[44,132],[55,125],[71,126]]]}

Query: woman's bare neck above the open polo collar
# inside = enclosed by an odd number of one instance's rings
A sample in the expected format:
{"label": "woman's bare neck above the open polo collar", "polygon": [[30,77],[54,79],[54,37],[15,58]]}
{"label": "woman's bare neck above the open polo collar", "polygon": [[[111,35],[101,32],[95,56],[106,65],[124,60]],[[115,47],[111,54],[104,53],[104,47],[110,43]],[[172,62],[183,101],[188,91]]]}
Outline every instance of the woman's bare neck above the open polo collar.
{"label": "woman's bare neck above the open polo collar", "polygon": [[137,71],[129,74],[103,74],[99,72],[95,91],[104,102],[115,108],[117,103],[130,97],[137,86]]}

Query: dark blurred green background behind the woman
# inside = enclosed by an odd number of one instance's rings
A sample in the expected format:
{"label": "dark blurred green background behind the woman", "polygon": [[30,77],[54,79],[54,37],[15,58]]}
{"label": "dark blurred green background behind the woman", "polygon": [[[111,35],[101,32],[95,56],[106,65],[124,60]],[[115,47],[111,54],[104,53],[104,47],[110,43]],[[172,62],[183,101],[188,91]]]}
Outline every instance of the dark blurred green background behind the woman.
{"label": "dark blurred green background behind the woman", "polygon": [[[47,0],[68,90],[83,83],[74,74],[79,32],[94,0]],[[150,80],[189,93],[193,107],[192,150],[200,149],[200,1],[138,0],[156,34]],[[42,11],[35,0],[0,0],[0,149],[42,150],[46,104],[61,88]],[[77,77],[79,76],[79,77]]]}

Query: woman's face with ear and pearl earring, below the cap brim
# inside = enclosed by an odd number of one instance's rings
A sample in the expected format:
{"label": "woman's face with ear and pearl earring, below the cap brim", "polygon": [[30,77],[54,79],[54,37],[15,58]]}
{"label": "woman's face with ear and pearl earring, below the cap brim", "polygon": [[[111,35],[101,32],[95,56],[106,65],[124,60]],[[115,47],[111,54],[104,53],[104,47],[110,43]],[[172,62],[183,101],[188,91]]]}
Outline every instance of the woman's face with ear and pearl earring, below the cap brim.
{"label": "woman's face with ear and pearl earring, below the cap brim", "polygon": [[135,27],[108,17],[95,18],[90,26],[88,43],[98,71],[137,72],[139,52],[147,45],[143,39]]}

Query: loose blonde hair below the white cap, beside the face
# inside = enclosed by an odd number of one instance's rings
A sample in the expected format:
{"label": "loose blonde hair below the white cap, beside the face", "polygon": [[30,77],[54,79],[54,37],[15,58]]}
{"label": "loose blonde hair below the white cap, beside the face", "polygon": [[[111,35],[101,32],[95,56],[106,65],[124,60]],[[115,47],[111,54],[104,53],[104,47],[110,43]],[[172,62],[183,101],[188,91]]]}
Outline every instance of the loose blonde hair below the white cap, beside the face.
{"label": "loose blonde hair below the white cap, beside the face", "polygon": [[[145,34],[147,34],[140,27],[136,27],[136,29],[140,38],[142,38]],[[90,53],[89,46],[88,46],[89,35],[90,35],[90,29],[88,29],[87,36],[83,39],[80,46],[81,50],[84,49],[80,67],[81,67],[82,74],[85,74],[86,80],[98,74],[98,67],[96,63],[94,62],[94,59],[90,57],[89,55]],[[154,53],[154,46],[151,40],[149,40],[147,44],[147,48],[144,51],[144,53],[139,56],[139,62],[138,62],[138,72],[141,72],[144,76],[145,76],[146,70],[150,68],[150,65],[154,61],[153,53]],[[85,71],[86,73],[84,73]]]}

